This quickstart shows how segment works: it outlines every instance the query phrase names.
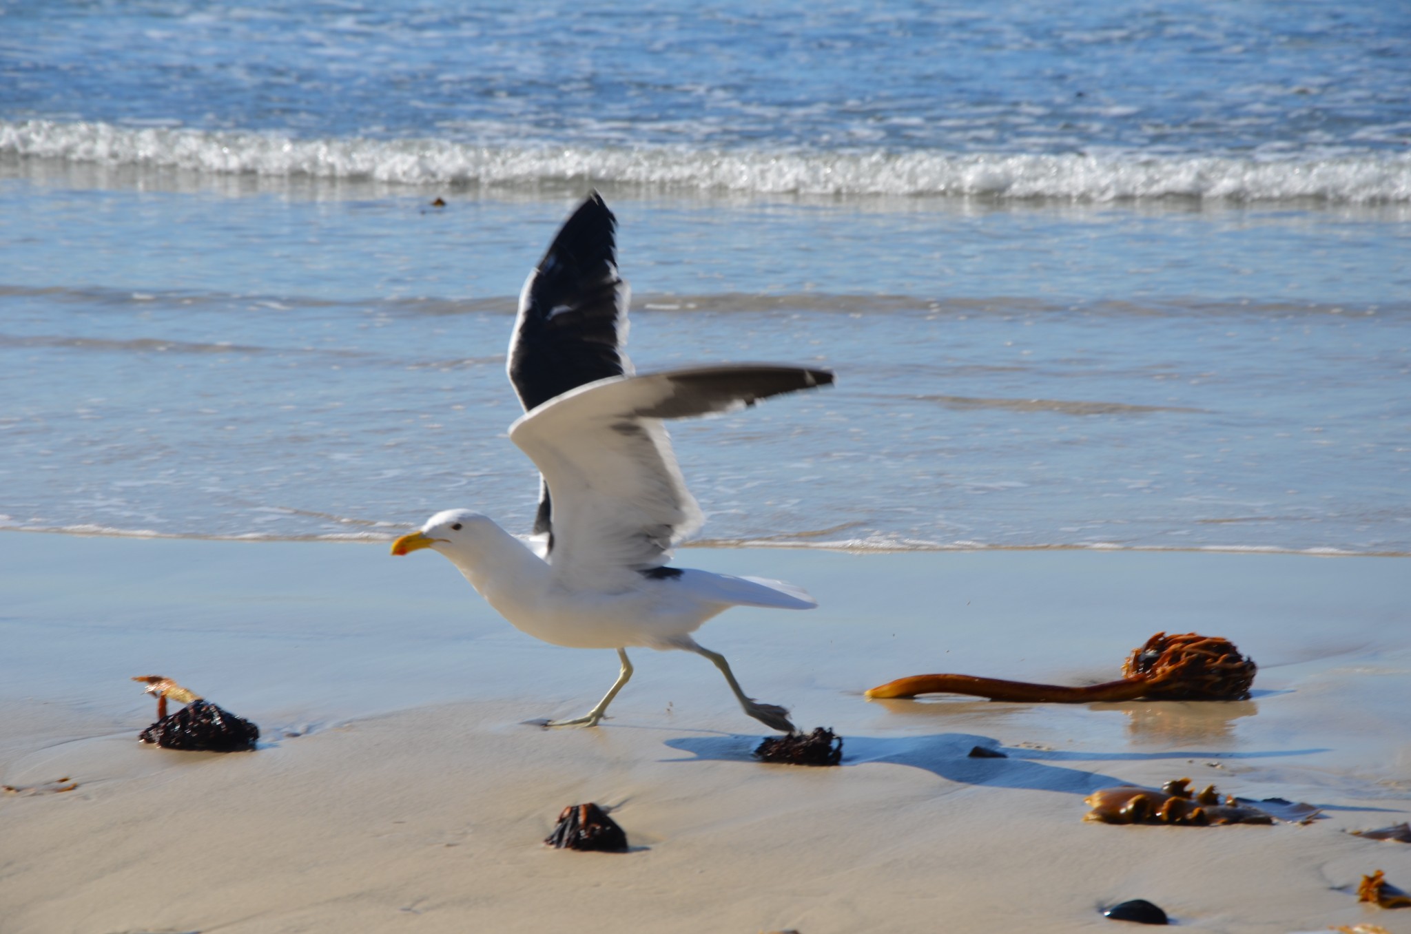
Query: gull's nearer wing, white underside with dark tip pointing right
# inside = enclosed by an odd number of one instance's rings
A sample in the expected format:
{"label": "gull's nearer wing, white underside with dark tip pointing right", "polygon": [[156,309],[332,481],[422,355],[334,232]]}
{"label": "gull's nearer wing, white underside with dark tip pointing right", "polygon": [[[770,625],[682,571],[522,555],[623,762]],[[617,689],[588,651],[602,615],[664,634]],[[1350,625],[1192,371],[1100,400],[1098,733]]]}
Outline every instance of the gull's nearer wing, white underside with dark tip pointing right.
{"label": "gull's nearer wing, white underside with dark tip pointing right", "polygon": [[701,525],[662,419],[728,412],[783,392],[828,385],[827,370],[741,364],[600,380],[509,426],[553,495],[557,580],[617,590],[660,567]]}

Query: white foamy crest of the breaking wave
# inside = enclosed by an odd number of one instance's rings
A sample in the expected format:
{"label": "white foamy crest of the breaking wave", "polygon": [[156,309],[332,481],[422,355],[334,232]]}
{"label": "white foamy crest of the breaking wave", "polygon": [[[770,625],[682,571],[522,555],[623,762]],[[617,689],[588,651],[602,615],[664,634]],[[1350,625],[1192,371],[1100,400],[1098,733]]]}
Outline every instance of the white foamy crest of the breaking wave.
{"label": "white foamy crest of the breaking wave", "polygon": [[0,155],[114,166],[514,188],[590,182],[799,195],[1084,202],[1411,202],[1411,154],[1229,157],[478,147],[449,140],[299,140],[274,133],[0,121]]}

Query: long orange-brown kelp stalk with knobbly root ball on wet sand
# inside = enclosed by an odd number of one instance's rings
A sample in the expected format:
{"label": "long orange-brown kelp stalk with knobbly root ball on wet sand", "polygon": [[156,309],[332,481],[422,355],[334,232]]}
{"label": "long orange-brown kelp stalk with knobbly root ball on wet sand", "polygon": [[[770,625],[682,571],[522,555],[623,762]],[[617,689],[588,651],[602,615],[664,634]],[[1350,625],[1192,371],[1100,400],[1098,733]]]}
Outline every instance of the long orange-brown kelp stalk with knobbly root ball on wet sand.
{"label": "long orange-brown kelp stalk with knobbly root ball on wet sand", "polygon": [[991,700],[1089,704],[1147,700],[1245,700],[1259,666],[1228,639],[1158,632],[1133,649],[1122,680],[1084,687],[1006,681],[974,674],[914,674],[866,691],[869,698],[971,694]]}

